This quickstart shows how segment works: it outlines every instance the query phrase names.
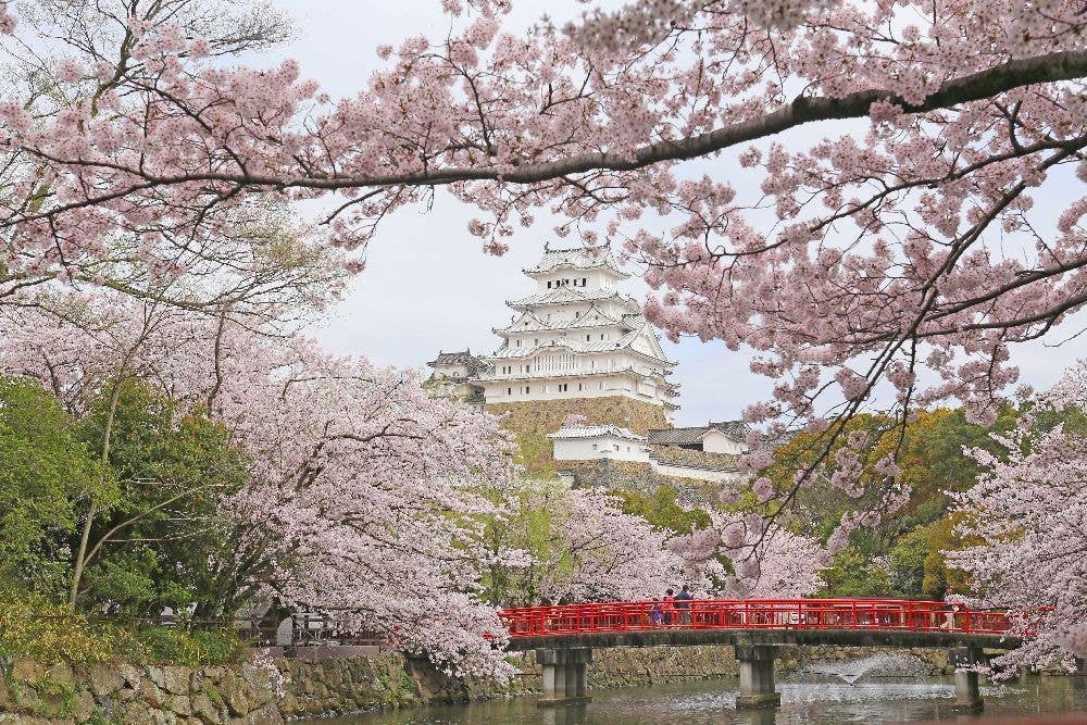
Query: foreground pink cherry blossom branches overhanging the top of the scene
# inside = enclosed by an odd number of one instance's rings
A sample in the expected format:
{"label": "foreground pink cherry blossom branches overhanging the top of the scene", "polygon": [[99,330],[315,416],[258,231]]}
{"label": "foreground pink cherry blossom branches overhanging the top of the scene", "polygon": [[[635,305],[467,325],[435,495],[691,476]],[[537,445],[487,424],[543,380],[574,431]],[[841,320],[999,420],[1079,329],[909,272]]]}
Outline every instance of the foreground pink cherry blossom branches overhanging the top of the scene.
{"label": "foreground pink cherry blossom branches overhanging the top of the scene", "polygon": [[[1009,347],[1087,302],[1078,0],[645,0],[521,36],[508,2],[443,8],[446,38],[376,49],[386,67],[334,101],[292,61],[225,65],[243,43],[222,24],[118,2],[80,42],[5,4],[7,45],[55,59],[50,93],[18,86],[0,108],[5,284],[95,283],[114,238],[185,278],[253,195],[323,199],[357,268],[384,217],[445,188],[480,209],[468,230],[493,252],[540,210],[561,235],[622,241],[661,290],[652,320],[759,353],[776,385],[746,413],[765,425],[751,442],[803,425],[823,457],[880,380],[899,425],[947,398],[990,418]],[[894,454],[880,468],[889,507]]]}

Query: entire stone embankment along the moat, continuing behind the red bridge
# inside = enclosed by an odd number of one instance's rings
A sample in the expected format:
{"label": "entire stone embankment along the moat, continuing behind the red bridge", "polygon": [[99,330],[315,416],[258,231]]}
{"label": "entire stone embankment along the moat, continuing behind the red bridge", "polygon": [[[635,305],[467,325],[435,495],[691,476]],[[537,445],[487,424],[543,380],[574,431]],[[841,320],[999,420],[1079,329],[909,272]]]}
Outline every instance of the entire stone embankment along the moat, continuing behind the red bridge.
{"label": "entire stone embankment along the moat, continuing behind the red bridge", "polygon": [[[278,724],[305,716],[464,702],[537,692],[532,652],[511,655],[521,675],[510,683],[448,677],[426,661],[396,652],[328,648],[300,657],[255,657],[234,665],[43,664],[0,661],[0,723],[25,725]],[[789,648],[788,672],[811,660],[866,657],[875,649]],[[890,651],[890,650],[888,650]],[[942,650],[911,650],[935,673],[949,672]],[[336,654],[339,654],[336,657]],[[345,657],[349,654],[348,657]],[[589,670],[590,689],[735,677],[730,647],[604,649]]]}

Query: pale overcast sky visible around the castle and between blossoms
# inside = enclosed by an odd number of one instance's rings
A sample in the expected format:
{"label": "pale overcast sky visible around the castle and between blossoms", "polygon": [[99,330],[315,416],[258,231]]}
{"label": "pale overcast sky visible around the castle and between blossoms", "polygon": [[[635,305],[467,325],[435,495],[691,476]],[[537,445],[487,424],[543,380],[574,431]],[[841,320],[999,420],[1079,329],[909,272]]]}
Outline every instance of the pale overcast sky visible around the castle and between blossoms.
{"label": "pale overcast sky visible around the castle and between blossoms", "polygon": [[[376,46],[396,46],[420,34],[440,37],[447,29],[438,0],[275,0],[275,4],[297,26],[297,37],[275,55],[298,59],[302,74],[320,82],[334,98],[353,96],[364,86],[382,62],[374,53]],[[576,0],[522,0],[514,3],[510,23],[527,27],[544,12],[562,22],[583,7]],[[790,140],[807,145],[819,135],[811,127]],[[699,173],[705,170],[734,179],[738,187],[744,184],[745,172],[732,157],[699,166]],[[750,178],[758,183],[757,177]],[[466,232],[467,221],[475,215],[473,209],[438,193],[428,212],[405,209],[384,221],[370,246],[366,272],[329,318],[314,329],[322,343],[379,364],[412,367],[424,366],[439,349],[492,351],[499,338],[490,330],[502,326],[511,314],[504,301],[533,289],[521,270],[535,263],[549,239],[569,241],[555,239],[541,214],[535,228],[517,233],[504,257],[486,255],[478,239]],[[635,278],[625,289],[642,297],[647,288]],[[1058,335],[1074,332],[1069,327]],[[664,347],[679,362],[674,376],[680,384],[678,424],[738,417],[747,403],[770,391],[765,379],[749,372],[746,354],[730,353],[720,342],[672,345],[665,340]],[[1022,368],[1024,383],[1045,388],[1077,354],[1087,354],[1082,342],[1057,349],[1037,343],[1013,350],[1013,360]]]}

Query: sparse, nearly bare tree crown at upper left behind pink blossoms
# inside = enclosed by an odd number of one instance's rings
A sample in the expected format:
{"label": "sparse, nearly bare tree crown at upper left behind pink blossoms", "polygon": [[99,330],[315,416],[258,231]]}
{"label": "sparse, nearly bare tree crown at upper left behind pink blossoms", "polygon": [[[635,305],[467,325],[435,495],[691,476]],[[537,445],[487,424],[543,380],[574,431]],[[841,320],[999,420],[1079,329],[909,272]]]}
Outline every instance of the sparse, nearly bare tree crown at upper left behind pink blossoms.
{"label": "sparse, nearly bare tree crown at upper left behind pink blossoms", "polygon": [[[11,4],[4,9],[10,23]],[[22,0],[18,13],[25,33],[3,45],[0,96],[21,103],[38,124],[80,107],[105,124],[115,121],[99,99],[145,72],[133,35],[136,27],[152,34],[170,27],[200,37],[213,62],[267,49],[290,32],[286,17],[260,2]],[[112,75],[95,84],[73,83],[76,59],[102,74],[110,68]],[[129,91],[121,92],[132,100]],[[137,112],[136,107],[126,101],[126,111]],[[39,176],[48,163],[24,163],[16,157],[8,160],[34,178],[23,201],[40,207],[55,191],[48,173]],[[5,175],[0,183],[15,191],[16,175]],[[237,204],[193,212],[207,216],[214,234],[195,238],[168,220],[148,216],[147,234],[118,226],[85,227],[75,246],[55,247],[35,258],[22,246],[22,235],[13,233],[0,255],[0,303],[59,279],[187,309],[229,308],[235,314],[283,317],[298,314],[299,308],[320,307],[341,289],[342,254],[321,243],[286,200],[257,193]]]}

